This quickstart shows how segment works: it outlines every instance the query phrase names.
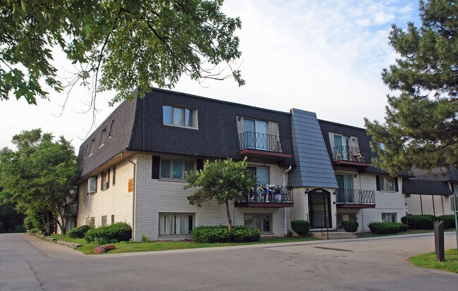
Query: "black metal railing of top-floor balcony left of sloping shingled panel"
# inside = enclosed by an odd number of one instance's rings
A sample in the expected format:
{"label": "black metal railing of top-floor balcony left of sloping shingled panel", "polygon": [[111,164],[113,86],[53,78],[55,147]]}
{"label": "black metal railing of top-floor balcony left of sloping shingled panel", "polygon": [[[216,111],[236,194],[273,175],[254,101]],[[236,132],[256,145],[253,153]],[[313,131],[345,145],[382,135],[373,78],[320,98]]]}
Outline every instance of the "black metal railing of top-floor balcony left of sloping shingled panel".
{"label": "black metal railing of top-floor balcony left of sloping shingled panel", "polygon": [[258,149],[261,151],[274,151],[277,153],[291,154],[291,139],[280,140],[278,135],[266,135],[259,132],[243,132],[239,135],[240,150]]}

